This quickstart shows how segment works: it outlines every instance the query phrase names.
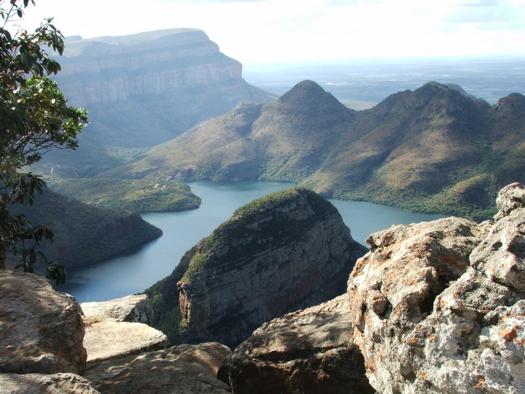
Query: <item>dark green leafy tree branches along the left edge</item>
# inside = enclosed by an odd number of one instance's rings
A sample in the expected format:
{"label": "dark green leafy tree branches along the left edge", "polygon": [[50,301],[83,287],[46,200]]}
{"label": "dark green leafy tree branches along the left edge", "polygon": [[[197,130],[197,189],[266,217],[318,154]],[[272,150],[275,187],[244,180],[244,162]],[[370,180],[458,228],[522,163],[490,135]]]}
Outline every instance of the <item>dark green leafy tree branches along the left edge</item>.
{"label": "dark green leafy tree branches along the left edge", "polygon": [[[23,17],[23,8],[33,0],[0,1],[0,268],[7,253],[20,256],[20,266],[33,272],[37,260],[46,262],[37,245],[53,240],[54,233],[45,225],[31,226],[23,213],[13,215],[13,204],[33,204],[35,192],[41,193],[45,182],[29,172],[42,154],[53,148],[78,146],[77,134],[87,123],[87,112],[67,106],[55,82],[47,77],[60,70],[58,62],[47,53],[64,51],[64,37],[47,19],[34,33],[7,26]],[[49,278],[63,283],[64,268],[53,263]]]}

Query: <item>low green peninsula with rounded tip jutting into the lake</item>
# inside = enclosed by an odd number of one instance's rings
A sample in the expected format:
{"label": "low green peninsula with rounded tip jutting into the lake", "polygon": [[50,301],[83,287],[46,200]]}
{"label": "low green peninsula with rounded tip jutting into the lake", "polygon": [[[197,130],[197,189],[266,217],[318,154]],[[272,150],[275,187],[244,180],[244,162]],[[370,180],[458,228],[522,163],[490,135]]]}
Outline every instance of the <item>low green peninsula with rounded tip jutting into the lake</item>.
{"label": "low green peninsula with rounded tip jutting into the lake", "polygon": [[196,209],[201,199],[181,182],[122,179],[61,179],[49,182],[54,191],[87,204],[116,211],[178,212]]}

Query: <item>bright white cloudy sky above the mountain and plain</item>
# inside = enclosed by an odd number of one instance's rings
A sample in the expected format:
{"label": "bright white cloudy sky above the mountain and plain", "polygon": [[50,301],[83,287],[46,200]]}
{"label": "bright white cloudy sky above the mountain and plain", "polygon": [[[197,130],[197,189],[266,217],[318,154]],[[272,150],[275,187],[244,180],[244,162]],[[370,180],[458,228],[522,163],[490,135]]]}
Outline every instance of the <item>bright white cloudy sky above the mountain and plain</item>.
{"label": "bright white cloudy sky above the mountain and plain", "polygon": [[[525,0],[35,0],[65,36],[204,30],[243,65],[336,59],[525,55]],[[67,47],[66,47],[67,50]]]}

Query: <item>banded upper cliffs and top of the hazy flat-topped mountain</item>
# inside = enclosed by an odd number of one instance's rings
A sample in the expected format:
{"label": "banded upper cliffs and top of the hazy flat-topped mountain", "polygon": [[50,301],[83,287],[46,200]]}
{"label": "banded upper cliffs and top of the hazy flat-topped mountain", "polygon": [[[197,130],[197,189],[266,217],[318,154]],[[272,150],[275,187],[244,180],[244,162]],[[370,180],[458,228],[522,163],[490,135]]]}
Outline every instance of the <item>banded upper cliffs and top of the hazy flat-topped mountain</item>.
{"label": "banded upper cliffs and top of the hazy flat-topped mountain", "polygon": [[57,76],[77,106],[241,79],[241,64],[197,29],[66,40]]}

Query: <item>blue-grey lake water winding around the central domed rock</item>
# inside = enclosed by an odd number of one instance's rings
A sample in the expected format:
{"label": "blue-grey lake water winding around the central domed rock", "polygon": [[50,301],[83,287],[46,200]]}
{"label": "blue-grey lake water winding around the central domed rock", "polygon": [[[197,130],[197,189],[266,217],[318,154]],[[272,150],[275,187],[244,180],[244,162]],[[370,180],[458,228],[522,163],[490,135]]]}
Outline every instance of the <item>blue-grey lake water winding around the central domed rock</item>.
{"label": "blue-grey lake water winding around the central domed rock", "polygon": [[[142,292],[171,274],[182,255],[209,235],[232,213],[265,194],[289,188],[292,183],[241,181],[191,182],[194,194],[202,199],[196,210],[172,213],[144,213],[144,220],[159,227],[163,235],[146,245],[111,260],[84,268],[69,269],[67,283],[58,287],[79,302],[103,301]],[[330,200],[339,210],[352,237],[365,239],[392,224],[409,224],[444,217],[411,213],[366,202]]]}

